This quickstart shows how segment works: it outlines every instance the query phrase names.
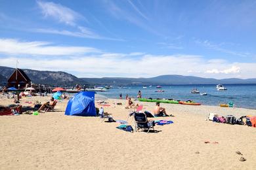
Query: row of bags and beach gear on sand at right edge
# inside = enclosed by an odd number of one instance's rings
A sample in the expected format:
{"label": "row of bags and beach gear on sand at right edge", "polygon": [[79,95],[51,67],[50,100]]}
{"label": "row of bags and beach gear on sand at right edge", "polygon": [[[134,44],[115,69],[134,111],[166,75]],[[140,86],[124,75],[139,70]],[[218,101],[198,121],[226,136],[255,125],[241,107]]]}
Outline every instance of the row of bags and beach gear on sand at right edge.
{"label": "row of bags and beach gear on sand at right edge", "polygon": [[240,118],[236,118],[233,115],[228,116],[219,116],[219,114],[210,113],[208,116],[208,120],[217,123],[224,123],[224,124],[238,124],[238,125],[247,125],[251,127],[256,127],[256,116],[241,116]]}

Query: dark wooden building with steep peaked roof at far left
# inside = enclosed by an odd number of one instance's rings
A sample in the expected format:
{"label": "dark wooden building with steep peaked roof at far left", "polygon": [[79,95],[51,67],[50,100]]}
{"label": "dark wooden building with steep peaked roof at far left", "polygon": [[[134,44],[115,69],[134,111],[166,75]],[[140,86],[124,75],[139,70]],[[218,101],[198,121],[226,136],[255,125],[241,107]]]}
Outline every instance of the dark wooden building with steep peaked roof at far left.
{"label": "dark wooden building with steep peaked roof at far left", "polygon": [[[20,86],[18,86],[20,84]],[[22,69],[15,69],[12,75],[8,79],[8,87],[14,87],[16,89],[25,89],[26,86],[30,87],[30,78],[22,71]]]}

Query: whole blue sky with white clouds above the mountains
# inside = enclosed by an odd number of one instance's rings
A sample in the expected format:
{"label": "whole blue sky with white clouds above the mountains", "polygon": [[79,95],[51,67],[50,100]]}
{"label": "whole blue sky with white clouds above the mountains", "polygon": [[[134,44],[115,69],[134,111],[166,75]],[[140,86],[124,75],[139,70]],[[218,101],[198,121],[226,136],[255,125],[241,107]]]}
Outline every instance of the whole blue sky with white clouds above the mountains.
{"label": "whole blue sky with white clouds above the mountains", "polygon": [[0,65],[256,78],[256,1],[0,0]]}

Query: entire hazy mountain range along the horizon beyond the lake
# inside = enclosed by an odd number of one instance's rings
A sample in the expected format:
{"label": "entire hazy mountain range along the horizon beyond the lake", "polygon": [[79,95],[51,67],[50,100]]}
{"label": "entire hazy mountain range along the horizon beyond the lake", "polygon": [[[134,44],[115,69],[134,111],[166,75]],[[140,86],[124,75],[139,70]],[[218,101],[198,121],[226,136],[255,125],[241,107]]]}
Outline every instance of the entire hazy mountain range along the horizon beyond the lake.
{"label": "entire hazy mountain range along the horizon beyond the lake", "polygon": [[[122,78],[122,77],[103,77],[103,78],[77,78],[74,75],[62,71],[36,71],[32,69],[22,69],[36,84],[50,84],[60,86],[70,86],[74,84],[90,85],[116,85],[116,86],[157,86],[171,84],[256,84],[256,78],[202,78],[198,76],[182,75],[161,75],[152,78]],[[14,68],[0,66],[0,83],[7,82]]]}

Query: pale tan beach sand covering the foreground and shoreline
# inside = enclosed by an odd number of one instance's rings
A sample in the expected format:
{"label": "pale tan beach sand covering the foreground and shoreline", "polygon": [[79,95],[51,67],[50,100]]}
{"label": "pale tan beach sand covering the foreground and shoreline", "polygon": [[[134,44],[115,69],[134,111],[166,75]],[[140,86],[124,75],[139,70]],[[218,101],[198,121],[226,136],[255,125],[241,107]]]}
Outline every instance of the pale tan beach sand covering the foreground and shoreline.
{"label": "pale tan beach sand covering the foreground and shoreline", "polygon": [[[27,97],[25,101],[49,97]],[[54,112],[0,116],[0,169],[255,169],[256,128],[205,121],[209,112],[239,118],[256,110],[161,104],[174,124],[156,126],[158,133],[129,133],[118,123],[98,117],[65,116],[68,100]],[[124,100],[108,99],[104,107],[116,120],[127,120]],[[121,102],[123,105],[115,105]],[[155,103],[144,105],[152,111]],[[9,105],[11,99],[0,99]],[[134,125],[133,118],[128,119]],[[209,141],[209,143],[205,143]],[[215,143],[217,142],[217,143]],[[246,161],[239,161],[242,152]],[[197,154],[196,152],[199,152]]]}

